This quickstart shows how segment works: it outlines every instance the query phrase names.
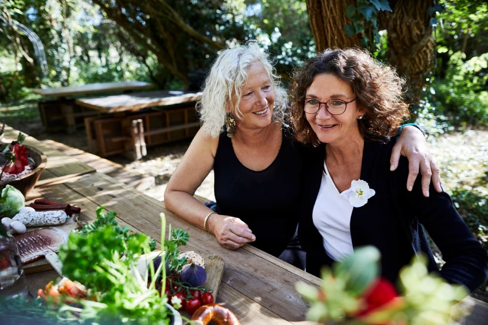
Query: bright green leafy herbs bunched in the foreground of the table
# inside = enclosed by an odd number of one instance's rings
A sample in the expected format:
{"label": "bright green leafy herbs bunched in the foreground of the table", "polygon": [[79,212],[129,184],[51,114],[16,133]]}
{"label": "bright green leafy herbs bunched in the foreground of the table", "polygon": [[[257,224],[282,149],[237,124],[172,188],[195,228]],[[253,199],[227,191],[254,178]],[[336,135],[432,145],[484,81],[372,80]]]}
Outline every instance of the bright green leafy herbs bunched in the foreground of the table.
{"label": "bright green leafy herbs bunched in the foreground of the table", "polygon": [[[150,270],[153,280],[149,286],[148,277],[141,276],[136,268],[138,257],[154,249],[155,242],[145,234],[120,227],[115,217],[116,212],[98,208],[95,222],[72,231],[67,244],[60,248],[63,274],[83,284],[89,289],[89,296],[96,298],[80,300],[80,306],[63,305],[60,317],[81,324],[168,324],[168,297],[164,291],[160,296],[155,286],[160,274],[165,279],[163,264]],[[174,229],[164,240],[164,230],[162,214],[162,255],[177,256],[178,246],[186,244],[189,235]],[[175,265],[179,266],[179,262]]]}

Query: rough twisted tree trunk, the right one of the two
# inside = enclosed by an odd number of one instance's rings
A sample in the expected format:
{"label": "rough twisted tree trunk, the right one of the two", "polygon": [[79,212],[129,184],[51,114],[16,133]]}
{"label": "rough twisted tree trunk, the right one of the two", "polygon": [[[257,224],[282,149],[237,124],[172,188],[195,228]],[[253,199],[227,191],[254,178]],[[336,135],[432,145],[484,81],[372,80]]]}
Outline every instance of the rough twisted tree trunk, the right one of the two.
{"label": "rough twisted tree trunk, the right one of the two", "polygon": [[388,33],[389,64],[407,77],[412,103],[418,102],[434,65],[435,40],[427,9],[433,0],[398,0],[393,12],[382,16]]}

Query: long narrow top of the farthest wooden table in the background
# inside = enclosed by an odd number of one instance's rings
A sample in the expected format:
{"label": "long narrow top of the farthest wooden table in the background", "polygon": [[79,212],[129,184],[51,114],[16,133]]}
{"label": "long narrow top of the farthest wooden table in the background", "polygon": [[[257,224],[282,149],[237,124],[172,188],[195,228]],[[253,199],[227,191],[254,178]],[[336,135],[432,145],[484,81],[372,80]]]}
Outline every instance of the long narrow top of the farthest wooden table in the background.
{"label": "long narrow top of the farthest wooden table in the background", "polygon": [[80,86],[34,89],[33,93],[44,97],[67,97],[96,94],[102,92],[142,90],[154,88],[154,84],[144,81],[98,82]]}

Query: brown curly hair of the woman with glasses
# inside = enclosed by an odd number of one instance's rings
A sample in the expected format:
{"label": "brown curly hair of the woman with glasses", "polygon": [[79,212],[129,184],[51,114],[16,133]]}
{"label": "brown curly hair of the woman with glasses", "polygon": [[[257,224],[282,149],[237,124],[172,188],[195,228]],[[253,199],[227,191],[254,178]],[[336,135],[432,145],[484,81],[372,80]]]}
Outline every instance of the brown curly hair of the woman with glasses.
{"label": "brown curly hair of the woman with glasses", "polygon": [[366,50],[326,49],[297,68],[290,83],[290,109],[299,141],[314,146],[320,143],[305,117],[304,104],[314,77],[323,73],[338,76],[351,85],[358,97],[358,107],[366,110],[363,119],[358,120],[366,140],[385,141],[407,119],[405,80],[392,68],[375,60]]}

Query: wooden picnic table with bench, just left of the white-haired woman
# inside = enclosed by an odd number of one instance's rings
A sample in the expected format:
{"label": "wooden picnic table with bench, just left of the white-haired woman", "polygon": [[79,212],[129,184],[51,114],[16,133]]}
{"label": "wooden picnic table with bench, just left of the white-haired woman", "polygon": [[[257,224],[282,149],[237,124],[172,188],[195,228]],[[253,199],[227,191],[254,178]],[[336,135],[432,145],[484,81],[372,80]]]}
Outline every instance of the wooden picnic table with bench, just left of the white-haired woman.
{"label": "wooden picnic table with bench, just left of the white-haired woman", "polygon": [[[140,159],[147,146],[196,133],[200,122],[195,102],[201,96],[201,92],[160,90],[78,98],[76,104],[104,114],[84,120],[90,151],[101,156],[131,152]],[[154,107],[158,108],[149,110]]]}

